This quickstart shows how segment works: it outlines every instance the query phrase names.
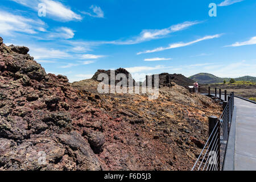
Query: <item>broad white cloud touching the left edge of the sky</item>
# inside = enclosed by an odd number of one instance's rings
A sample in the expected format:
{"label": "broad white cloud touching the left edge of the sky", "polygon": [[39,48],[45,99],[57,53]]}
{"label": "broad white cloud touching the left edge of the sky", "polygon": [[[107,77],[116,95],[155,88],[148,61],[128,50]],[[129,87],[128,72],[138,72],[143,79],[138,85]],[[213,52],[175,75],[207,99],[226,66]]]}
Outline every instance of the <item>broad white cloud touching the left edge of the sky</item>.
{"label": "broad white cloud touching the left edge of the sky", "polygon": [[13,32],[36,34],[37,30],[43,30],[45,23],[39,19],[30,19],[14,15],[0,10],[0,34],[13,35]]}

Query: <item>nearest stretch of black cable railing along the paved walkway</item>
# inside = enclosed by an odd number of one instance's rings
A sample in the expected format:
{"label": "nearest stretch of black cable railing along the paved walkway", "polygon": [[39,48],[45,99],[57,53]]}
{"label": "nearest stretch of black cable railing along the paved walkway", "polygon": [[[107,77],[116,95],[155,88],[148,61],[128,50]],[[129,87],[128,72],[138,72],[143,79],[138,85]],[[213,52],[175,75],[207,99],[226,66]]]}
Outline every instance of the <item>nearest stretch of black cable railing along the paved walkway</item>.
{"label": "nearest stretch of black cable railing along the paved walkway", "polygon": [[234,93],[223,102],[223,112],[220,118],[209,117],[209,138],[196,160],[192,171],[221,171],[226,146],[229,138],[229,129],[234,107]]}

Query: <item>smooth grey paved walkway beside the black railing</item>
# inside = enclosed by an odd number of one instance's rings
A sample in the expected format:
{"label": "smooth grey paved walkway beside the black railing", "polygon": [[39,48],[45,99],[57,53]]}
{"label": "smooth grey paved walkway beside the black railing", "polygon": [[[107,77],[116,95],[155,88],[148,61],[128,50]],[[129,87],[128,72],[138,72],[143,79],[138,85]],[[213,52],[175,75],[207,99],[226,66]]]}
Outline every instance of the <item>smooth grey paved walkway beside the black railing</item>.
{"label": "smooth grey paved walkway beside the black railing", "polygon": [[256,170],[256,104],[234,98],[237,106],[234,170]]}

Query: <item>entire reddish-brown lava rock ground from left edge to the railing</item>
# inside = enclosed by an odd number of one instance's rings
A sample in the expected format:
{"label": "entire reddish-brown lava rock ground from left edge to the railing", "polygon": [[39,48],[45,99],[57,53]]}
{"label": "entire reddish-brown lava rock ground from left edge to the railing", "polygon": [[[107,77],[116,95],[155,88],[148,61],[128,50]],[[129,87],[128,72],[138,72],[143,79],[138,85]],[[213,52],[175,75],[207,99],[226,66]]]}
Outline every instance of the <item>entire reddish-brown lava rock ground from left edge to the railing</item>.
{"label": "entire reddish-brown lava rock ground from left edge to the railing", "polygon": [[221,113],[174,83],[154,101],[98,94],[98,81],[71,85],[28,51],[0,39],[0,170],[188,170],[207,139],[207,117]]}

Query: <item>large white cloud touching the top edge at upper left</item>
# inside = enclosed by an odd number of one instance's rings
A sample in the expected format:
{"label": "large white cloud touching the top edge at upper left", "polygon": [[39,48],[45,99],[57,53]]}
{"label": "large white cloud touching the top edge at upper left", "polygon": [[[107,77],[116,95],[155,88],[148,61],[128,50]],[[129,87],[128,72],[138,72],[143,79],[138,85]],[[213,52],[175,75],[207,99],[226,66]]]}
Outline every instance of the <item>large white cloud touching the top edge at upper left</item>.
{"label": "large white cloud touching the top edge at upper left", "polygon": [[44,3],[46,5],[46,17],[50,16],[55,20],[61,21],[71,21],[71,20],[81,20],[81,16],[74,13],[69,7],[64,6],[59,1],[52,0],[10,0],[20,5],[30,7],[35,11],[38,11],[38,4]]}

